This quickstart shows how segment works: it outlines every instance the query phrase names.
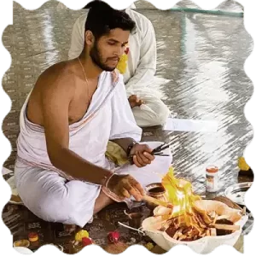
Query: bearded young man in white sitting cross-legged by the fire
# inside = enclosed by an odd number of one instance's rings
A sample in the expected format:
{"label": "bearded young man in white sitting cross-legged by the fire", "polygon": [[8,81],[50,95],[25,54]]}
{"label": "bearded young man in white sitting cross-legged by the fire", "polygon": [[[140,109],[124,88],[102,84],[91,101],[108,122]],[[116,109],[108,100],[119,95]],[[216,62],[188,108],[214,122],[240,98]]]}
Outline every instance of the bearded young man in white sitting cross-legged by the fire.
{"label": "bearded young man in white sitting cross-legged by the fire", "polygon": [[[84,227],[113,201],[142,201],[144,187],[160,182],[172,156],[150,154],[142,144],[116,72],[133,20],[108,3],[92,1],[78,58],[49,67],[20,112],[16,188],[24,205],[49,222]],[[134,164],[116,169],[105,156],[119,144]]]}

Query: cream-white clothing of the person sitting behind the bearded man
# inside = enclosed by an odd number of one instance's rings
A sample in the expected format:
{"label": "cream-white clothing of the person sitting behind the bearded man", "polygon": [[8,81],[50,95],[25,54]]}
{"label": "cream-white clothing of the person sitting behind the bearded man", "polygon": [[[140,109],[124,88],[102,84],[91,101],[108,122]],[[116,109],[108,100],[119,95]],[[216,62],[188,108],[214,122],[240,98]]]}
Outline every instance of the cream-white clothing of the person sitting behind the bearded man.
{"label": "cream-white clothing of the person sitting behind the bearded man", "polygon": [[[137,125],[141,127],[164,125],[170,115],[169,109],[160,99],[156,84],[164,79],[154,77],[156,72],[156,39],[154,26],[144,15],[131,8],[125,12],[136,22],[137,32],[129,38],[128,65],[124,73],[127,97],[137,95],[145,104],[133,108]],[[81,15],[73,25],[71,47],[68,58],[73,59],[84,49],[84,26],[87,14]]]}

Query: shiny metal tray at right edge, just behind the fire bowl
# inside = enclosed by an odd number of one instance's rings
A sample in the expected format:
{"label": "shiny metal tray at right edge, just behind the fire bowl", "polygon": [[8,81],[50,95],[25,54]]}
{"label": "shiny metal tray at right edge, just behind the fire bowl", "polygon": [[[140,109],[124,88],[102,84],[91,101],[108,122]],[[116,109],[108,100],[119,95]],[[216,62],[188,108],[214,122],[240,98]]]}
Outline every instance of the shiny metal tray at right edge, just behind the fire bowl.
{"label": "shiny metal tray at right edge, just behind the fire bowl", "polygon": [[224,195],[241,206],[246,206],[247,191],[253,187],[253,182],[237,183],[225,189]]}

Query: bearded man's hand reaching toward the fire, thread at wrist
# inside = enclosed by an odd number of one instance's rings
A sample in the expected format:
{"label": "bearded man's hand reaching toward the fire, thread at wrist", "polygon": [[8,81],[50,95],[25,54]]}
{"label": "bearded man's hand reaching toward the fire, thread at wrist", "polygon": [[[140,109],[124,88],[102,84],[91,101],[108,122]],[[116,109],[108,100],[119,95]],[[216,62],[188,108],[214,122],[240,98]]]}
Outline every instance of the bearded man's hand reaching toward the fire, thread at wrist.
{"label": "bearded man's hand reaching toward the fire, thread at wrist", "polygon": [[114,174],[108,181],[108,189],[121,199],[132,195],[137,201],[143,200],[143,187],[131,175]]}

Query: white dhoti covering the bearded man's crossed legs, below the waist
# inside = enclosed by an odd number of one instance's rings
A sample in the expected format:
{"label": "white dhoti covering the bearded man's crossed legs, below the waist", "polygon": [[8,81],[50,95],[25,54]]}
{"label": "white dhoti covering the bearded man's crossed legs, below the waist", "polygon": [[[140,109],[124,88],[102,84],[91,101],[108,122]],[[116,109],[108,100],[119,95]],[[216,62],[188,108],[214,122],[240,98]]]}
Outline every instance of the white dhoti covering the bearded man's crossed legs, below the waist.
{"label": "white dhoti covering the bearded man's crossed legs, below the waist", "polygon": [[[148,143],[149,147],[160,143]],[[166,152],[167,153],[167,152]],[[130,174],[145,188],[160,183],[172,164],[172,156],[156,156],[150,166],[137,168],[125,165],[117,173]],[[68,181],[56,172],[39,167],[16,164],[16,187],[24,205],[38,218],[49,222],[76,224],[84,227],[92,218],[96,198],[102,187],[78,180]],[[132,200],[125,201],[133,207]]]}

